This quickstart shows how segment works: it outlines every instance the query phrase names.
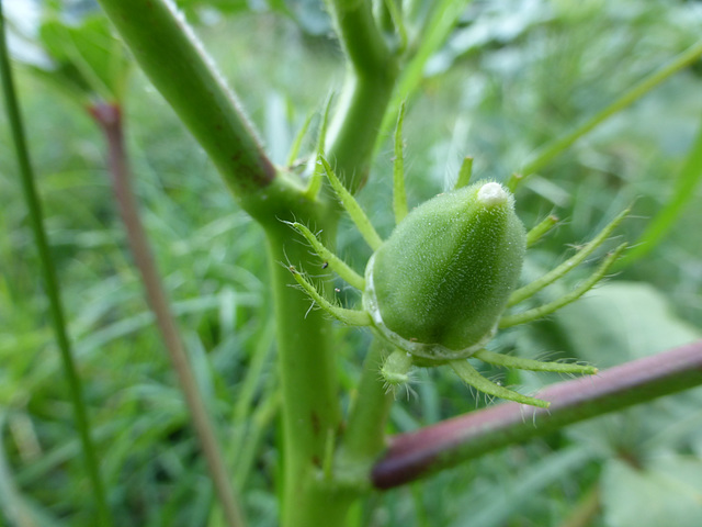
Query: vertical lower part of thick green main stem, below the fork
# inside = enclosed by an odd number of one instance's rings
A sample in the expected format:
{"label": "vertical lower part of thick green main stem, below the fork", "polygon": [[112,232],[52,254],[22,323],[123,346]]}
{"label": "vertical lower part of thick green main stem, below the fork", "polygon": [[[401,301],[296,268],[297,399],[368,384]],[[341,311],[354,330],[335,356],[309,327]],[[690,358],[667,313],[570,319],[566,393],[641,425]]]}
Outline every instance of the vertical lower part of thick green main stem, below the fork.
{"label": "vertical lower part of thick green main stem, below the fork", "polygon": [[[293,274],[281,265],[290,261],[304,269],[317,258],[292,234],[283,224],[267,229],[282,383],[285,480],[281,525],[342,525],[348,507],[344,493],[321,480],[327,438],[341,424],[330,346],[332,326],[324,312],[309,310],[309,298],[293,287]],[[329,228],[325,235],[329,243]]]}

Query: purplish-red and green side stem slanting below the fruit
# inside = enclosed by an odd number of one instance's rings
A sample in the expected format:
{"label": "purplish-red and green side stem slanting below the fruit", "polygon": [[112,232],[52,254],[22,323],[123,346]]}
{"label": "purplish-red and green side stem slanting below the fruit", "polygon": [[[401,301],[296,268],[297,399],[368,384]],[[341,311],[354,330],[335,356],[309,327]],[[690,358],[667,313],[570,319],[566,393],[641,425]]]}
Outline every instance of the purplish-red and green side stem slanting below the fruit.
{"label": "purplish-red and green side stem slanting below the fruit", "polygon": [[508,445],[702,384],[702,340],[555,384],[537,396],[550,408],[506,403],[400,434],[372,471],[390,489]]}

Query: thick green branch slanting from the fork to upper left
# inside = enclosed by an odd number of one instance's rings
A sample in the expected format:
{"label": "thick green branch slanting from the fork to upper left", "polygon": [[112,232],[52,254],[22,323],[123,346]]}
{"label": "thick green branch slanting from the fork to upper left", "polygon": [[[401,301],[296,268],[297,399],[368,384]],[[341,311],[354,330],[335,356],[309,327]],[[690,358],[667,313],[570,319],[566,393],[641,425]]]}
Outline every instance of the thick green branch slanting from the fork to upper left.
{"label": "thick green branch slanting from the fork to upper left", "polygon": [[[275,179],[234,93],[165,0],[100,0],[154,86],[242,198]],[[245,204],[245,203],[242,203]]]}

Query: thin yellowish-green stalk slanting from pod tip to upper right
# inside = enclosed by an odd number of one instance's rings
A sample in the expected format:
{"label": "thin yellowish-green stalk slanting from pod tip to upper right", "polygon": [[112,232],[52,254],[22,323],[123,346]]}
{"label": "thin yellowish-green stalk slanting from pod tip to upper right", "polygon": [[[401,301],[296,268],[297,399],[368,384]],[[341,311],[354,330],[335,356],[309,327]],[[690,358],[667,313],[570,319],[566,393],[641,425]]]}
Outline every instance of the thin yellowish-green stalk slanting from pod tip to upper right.
{"label": "thin yellowish-green stalk slanting from pod tip to upper right", "polygon": [[673,74],[679,70],[690,66],[694,63],[700,56],[702,56],[702,41],[698,42],[693,46],[689,47],[680,55],[676,56],[672,60],[670,60],[667,65],[654,71],[652,75],[646,77],[644,80],[635,85],[632,89],[630,89],[626,93],[607,106],[604,110],[595,114],[588,121],[582,123],[576,130],[570,132],[569,134],[554,141],[553,143],[548,143],[543,146],[535,155],[534,158],[529,161],[522,171],[519,173],[520,177],[512,177],[510,180],[509,187],[513,189],[517,184],[521,183],[526,179],[528,176],[541,170],[544,166],[546,166],[554,157],[559,155],[563,150],[573,145],[576,141],[582,137],[585,134],[590,132],[592,128],[607,121],[612,115],[619,113],[626,106],[631,105],[641,97],[645,96],[647,92],[653,90],[656,86],[661,83],[664,80],[671,77]]}

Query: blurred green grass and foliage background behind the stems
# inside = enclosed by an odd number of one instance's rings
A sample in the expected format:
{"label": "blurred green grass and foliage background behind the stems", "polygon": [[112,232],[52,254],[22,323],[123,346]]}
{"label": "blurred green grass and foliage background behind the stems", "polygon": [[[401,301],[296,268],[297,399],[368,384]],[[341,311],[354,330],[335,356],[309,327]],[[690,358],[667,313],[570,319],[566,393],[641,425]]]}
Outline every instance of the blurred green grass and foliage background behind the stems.
{"label": "blurred green grass and foliage background behind the stems", "polygon": [[[330,90],[339,91],[343,75],[324,13],[305,9],[307,19],[297,22],[246,7],[218,15],[196,11],[200,36],[276,164],[285,162],[307,115],[321,111]],[[408,103],[410,206],[449,189],[465,155],[475,157],[476,176],[505,179],[540,145],[692,44],[701,26],[695,2],[476,2]],[[207,525],[213,490],[125,251],[102,139],[86,113],[39,78],[25,70],[18,80],[117,523]],[[525,279],[552,268],[564,258],[564,246],[589,239],[634,200],[635,215],[621,232],[638,238],[670,198],[701,126],[701,83],[699,64],[676,75],[525,183],[518,210],[526,225],[551,212],[564,220],[531,250]],[[234,472],[246,482],[251,525],[273,526],[279,427],[262,233],[138,71],[125,114],[144,220],[199,382],[225,450],[235,452]],[[90,491],[68,395],[57,381],[59,362],[4,120],[0,115],[0,525],[88,526],[83,505]],[[309,137],[304,152],[313,147]],[[371,173],[359,200],[387,235],[389,143]],[[700,198],[698,189],[693,200]],[[498,344],[525,356],[604,368],[699,338],[701,225],[702,209],[688,206],[645,258],[561,314],[510,332]],[[346,220],[339,254],[359,271],[370,256]],[[358,300],[352,294],[349,303]],[[548,294],[557,295],[557,287]],[[369,336],[343,329],[337,338],[338,368],[351,389]],[[535,389],[553,380],[519,373],[506,382]],[[441,371],[422,372],[416,390],[417,397],[393,410],[397,431],[485,404]],[[567,525],[599,496],[601,512],[582,525],[697,526],[701,403],[702,392],[694,390],[373,495],[354,512],[358,525]],[[237,457],[240,449],[233,445],[245,445],[256,462]]]}

